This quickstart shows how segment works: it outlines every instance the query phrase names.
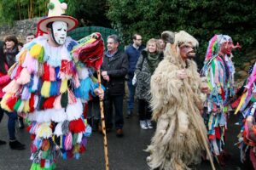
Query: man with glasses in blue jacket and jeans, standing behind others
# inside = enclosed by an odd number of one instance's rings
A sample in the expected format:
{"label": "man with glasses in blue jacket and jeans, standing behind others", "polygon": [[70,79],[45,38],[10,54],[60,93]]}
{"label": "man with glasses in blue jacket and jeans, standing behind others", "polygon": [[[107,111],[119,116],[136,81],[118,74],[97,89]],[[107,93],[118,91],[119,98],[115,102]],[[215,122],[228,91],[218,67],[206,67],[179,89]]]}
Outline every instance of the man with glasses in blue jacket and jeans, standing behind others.
{"label": "man with glasses in blue jacket and jeans, standing behind others", "polygon": [[128,67],[128,89],[129,89],[129,99],[128,99],[128,106],[127,106],[127,116],[126,118],[129,118],[133,114],[133,108],[134,108],[134,94],[135,94],[135,86],[132,85],[132,78],[134,77],[134,71],[137,64],[137,59],[139,58],[143,48],[145,48],[142,45],[142,36],[139,34],[134,34],[132,37],[133,43],[129,45],[125,49],[125,54],[128,57],[129,61],[129,67]]}

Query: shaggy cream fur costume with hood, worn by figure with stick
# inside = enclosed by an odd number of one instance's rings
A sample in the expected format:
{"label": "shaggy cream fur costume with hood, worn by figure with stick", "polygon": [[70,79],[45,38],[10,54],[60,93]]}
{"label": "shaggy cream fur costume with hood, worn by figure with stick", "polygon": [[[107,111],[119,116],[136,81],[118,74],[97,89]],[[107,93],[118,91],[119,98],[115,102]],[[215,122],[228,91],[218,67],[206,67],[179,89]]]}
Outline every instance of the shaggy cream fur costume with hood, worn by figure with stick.
{"label": "shaggy cream fur costume with hood, worn by figure with stick", "polygon": [[[203,100],[201,78],[195,62],[190,59],[183,62],[178,48],[178,44],[188,42],[192,42],[193,46],[198,43],[185,31],[178,32],[172,45],[174,48],[167,43],[165,58],[151,77],[151,106],[157,128],[146,151],[150,153],[147,161],[152,169],[189,169],[189,164],[201,162],[205,150],[198,130],[200,126],[207,139],[207,129],[200,114]],[[189,95],[185,92],[187,86],[177,78],[177,71],[181,69],[189,75],[185,80],[193,91]],[[192,121],[189,100],[196,112],[196,125]]]}

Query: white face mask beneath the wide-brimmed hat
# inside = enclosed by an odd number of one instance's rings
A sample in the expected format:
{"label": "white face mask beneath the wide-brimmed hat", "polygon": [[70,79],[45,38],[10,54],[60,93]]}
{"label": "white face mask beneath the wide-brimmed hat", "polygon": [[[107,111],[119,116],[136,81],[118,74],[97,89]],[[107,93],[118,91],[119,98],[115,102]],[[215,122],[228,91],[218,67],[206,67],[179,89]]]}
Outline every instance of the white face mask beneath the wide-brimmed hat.
{"label": "white face mask beneath the wide-brimmed hat", "polygon": [[67,23],[62,21],[55,21],[52,23],[52,37],[54,41],[62,45],[67,38]]}

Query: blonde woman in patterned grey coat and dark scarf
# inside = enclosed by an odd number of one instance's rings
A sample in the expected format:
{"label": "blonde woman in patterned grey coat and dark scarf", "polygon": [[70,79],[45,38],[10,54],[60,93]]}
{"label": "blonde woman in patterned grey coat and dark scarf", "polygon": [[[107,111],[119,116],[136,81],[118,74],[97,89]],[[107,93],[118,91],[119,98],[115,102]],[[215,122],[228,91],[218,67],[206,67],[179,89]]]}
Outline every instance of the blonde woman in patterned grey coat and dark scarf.
{"label": "blonde woman in patterned grey coat and dark scarf", "polygon": [[135,74],[137,75],[136,94],[138,99],[140,126],[142,129],[152,128],[150,121],[152,111],[149,107],[151,98],[149,93],[150,78],[163,58],[164,55],[160,52],[159,42],[152,38],[148,40],[147,47],[142,51],[142,54],[137,61],[135,71]]}

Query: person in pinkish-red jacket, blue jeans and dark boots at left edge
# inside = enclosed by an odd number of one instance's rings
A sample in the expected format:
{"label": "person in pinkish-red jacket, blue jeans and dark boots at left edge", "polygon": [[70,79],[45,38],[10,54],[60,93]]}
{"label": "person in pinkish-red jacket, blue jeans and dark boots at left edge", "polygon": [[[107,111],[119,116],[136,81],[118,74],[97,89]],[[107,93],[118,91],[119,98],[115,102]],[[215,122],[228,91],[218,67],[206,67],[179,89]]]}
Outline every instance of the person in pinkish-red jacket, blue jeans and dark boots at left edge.
{"label": "person in pinkish-red jacket, blue jeans and dark boots at left edge", "polygon": [[[10,77],[7,74],[8,65],[5,54],[3,53],[3,42],[0,43],[0,100],[3,99],[3,88],[10,82]],[[3,119],[3,109],[0,107],[0,122]],[[9,130],[9,146],[13,150],[24,150],[25,145],[20,144],[20,142],[15,137],[15,120],[17,119],[17,113],[15,112],[5,112],[9,116],[8,120],[8,130]],[[0,140],[0,144],[6,144],[5,141]]]}

